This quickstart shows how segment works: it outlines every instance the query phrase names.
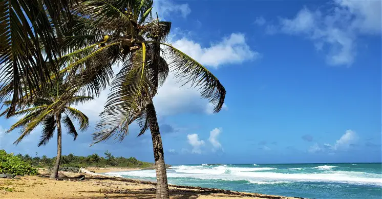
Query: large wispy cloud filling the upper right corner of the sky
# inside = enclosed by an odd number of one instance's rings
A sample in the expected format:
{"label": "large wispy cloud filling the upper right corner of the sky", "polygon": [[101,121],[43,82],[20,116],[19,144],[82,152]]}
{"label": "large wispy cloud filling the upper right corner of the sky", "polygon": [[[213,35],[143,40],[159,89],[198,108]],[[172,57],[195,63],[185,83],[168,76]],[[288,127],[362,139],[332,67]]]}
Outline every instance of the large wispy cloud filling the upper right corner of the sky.
{"label": "large wispy cloud filling the upper right corner of the sky", "polygon": [[294,18],[281,18],[281,31],[305,35],[317,50],[328,48],[330,65],[347,65],[356,56],[356,38],[381,33],[380,1],[338,0],[325,12],[304,7]]}

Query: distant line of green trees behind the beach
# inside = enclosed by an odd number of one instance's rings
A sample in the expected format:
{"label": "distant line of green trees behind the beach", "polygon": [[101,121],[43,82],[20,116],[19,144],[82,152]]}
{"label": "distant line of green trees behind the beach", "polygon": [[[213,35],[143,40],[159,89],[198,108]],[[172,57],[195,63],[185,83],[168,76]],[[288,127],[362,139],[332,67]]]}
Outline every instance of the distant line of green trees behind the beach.
{"label": "distant line of green trees behind the beach", "polygon": [[[88,156],[77,156],[73,153],[68,155],[62,155],[60,166],[68,167],[151,167],[152,163],[142,162],[137,160],[135,157],[115,157],[111,152],[105,151],[104,157],[99,156],[97,153]],[[46,155],[38,156],[38,153],[34,157],[29,154],[17,154],[24,162],[32,165],[33,167],[53,167],[56,162],[56,157],[49,158]]]}

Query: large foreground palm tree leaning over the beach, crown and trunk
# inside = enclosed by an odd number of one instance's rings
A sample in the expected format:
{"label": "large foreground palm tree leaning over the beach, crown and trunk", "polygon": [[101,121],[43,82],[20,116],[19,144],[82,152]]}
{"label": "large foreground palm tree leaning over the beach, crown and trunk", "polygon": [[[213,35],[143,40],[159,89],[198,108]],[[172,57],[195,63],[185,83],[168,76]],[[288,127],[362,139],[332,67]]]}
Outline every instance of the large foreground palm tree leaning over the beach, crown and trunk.
{"label": "large foreground palm tree leaning over the beach, crown and trunk", "polygon": [[[111,92],[93,134],[94,143],[115,136],[122,141],[137,121],[142,135],[150,129],[157,173],[157,198],[168,198],[164,152],[153,97],[170,71],[183,85],[201,90],[219,112],[226,91],[218,78],[167,42],[171,22],[152,16],[152,0],[87,0],[73,5],[72,22],[64,25],[57,65],[73,92]],[[113,75],[113,66],[121,66]],[[112,80],[112,77],[114,79]]]}

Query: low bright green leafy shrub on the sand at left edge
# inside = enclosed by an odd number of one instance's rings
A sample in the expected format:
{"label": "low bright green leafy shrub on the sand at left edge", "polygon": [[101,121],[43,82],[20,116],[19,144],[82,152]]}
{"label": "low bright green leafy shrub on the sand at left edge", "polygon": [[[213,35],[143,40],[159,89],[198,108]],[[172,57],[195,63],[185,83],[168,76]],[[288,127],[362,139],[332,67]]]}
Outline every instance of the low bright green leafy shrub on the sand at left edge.
{"label": "low bright green leafy shrub on the sand at left edge", "polygon": [[7,154],[5,150],[0,150],[0,173],[36,175],[38,172],[19,157],[14,156],[12,153]]}

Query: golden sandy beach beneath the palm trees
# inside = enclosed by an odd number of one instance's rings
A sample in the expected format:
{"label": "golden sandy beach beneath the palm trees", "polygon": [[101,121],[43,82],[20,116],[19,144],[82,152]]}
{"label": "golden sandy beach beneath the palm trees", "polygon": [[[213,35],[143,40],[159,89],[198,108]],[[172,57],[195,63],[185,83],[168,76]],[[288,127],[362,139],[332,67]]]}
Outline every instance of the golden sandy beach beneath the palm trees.
{"label": "golden sandy beach beneath the palm trees", "polygon": [[[91,169],[91,168],[87,168]],[[94,169],[100,173],[132,170],[130,168]],[[94,177],[71,172],[59,172],[61,180],[49,180],[46,170],[38,176],[14,179],[0,178],[1,198],[155,198],[155,183],[126,178]],[[5,188],[8,189],[5,190]],[[12,191],[10,191],[12,190]],[[258,193],[245,193],[202,187],[169,185],[171,198],[296,198]]]}

